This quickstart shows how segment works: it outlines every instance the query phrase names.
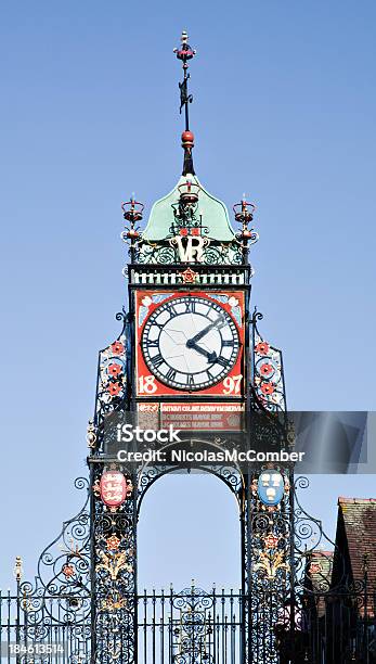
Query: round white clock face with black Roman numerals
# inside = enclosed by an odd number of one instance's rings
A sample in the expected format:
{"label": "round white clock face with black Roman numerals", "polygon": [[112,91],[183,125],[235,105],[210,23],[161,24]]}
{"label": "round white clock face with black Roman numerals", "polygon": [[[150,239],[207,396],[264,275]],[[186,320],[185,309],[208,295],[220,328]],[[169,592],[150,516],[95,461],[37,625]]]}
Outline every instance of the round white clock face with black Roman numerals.
{"label": "round white clock face with black Roman numerals", "polygon": [[222,381],[239,353],[236,325],[206,297],[174,297],[147,318],[141,348],[151,373],[169,387],[196,391]]}

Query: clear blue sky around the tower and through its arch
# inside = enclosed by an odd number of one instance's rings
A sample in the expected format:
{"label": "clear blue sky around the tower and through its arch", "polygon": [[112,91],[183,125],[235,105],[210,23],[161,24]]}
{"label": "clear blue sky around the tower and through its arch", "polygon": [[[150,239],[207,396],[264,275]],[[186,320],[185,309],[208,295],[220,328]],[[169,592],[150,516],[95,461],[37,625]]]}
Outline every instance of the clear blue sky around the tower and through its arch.
{"label": "clear blue sky around the tower and through its arch", "polygon": [[[2,587],[79,506],[96,353],[126,297],[120,202],[150,210],[181,169],[182,28],[197,175],[257,204],[252,299],[289,407],[375,409],[375,22],[372,0],[2,3]],[[337,496],[373,486],[313,477],[304,501],[333,532]],[[141,583],[236,585],[232,500],[208,477],[157,484]]]}

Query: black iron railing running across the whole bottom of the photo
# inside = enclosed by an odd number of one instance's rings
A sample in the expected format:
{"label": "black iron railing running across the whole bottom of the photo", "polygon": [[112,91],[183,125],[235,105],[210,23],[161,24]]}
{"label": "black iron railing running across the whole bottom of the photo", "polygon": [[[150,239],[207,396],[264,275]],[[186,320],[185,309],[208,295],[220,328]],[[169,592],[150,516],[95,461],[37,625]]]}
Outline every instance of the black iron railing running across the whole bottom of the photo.
{"label": "black iron railing running across the whole bottom of the photo", "polygon": [[[129,647],[138,664],[376,663],[376,589],[296,595],[294,605],[286,600],[272,625],[265,623],[270,593],[263,599],[258,593],[252,603],[238,591],[205,592],[192,586],[178,593],[172,588],[144,591],[122,601],[135,604],[129,643],[119,646],[114,611],[100,612],[105,650],[117,664],[129,661]],[[246,634],[246,602],[256,636]],[[96,664],[90,598],[0,593],[0,617],[1,664]]]}

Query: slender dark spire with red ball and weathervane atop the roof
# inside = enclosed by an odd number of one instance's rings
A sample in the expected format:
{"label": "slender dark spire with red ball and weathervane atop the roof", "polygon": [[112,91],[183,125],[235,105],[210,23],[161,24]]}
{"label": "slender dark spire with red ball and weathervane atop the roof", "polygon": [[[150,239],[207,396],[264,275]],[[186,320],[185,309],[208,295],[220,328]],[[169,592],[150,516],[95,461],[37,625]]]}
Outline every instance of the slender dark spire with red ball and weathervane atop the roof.
{"label": "slender dark spire with red ball and weathervane atop the roof", "polygon": [[180,113],[184,108],[185,115],[185,130],[182,133],[182,146],[184,149],[184,166],[183,166],[183,176],[185,175],[195,175],[193,167],[193,158],[192,158],[192,148],[194,145],[194,136],[192,131],[190,131],[190,114],[189,114],[189,104],[192,103],[193,97],[189,93],[187,81],[190,78],[189,74],[189,60],[192,60],[196,54],[196,51],[192,49],[187,42],[187,34],[185,30],[181,34],[181,47],[173,49],[173,52],[177,54],[178,60],[181,60],[183,63],[183,73],[184,77],[182,82],[179,84],[180,89]]}

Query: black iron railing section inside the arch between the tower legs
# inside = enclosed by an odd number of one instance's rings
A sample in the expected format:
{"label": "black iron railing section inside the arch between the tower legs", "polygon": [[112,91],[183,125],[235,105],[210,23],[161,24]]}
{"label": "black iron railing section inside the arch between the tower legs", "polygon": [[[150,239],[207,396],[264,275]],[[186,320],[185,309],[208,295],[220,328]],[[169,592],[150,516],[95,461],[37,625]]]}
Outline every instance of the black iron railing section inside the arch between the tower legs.
{"label": "black iron railing section inside the arch between the tower legs", "polygon": [[242,662],[243,606],[241,592],[144,592],[138,602],[139,664]]}

